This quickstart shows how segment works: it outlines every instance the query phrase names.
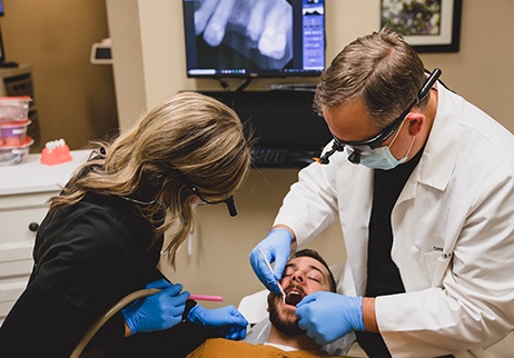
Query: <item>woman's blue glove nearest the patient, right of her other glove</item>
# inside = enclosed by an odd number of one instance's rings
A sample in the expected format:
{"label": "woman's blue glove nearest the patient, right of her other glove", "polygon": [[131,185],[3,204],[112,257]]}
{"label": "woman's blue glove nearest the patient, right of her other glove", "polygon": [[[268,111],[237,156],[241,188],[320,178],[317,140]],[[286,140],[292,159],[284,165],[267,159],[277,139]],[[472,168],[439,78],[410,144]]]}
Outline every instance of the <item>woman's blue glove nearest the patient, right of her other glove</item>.
{"label": "woman's blue glove nearest the patient, right of her other glove", "polygon": [[207,309],[200,305],[191,308],[187,319],[194,324],[223,328],[225,338],[243,339],[246,337],[248,321],[234,306]]}

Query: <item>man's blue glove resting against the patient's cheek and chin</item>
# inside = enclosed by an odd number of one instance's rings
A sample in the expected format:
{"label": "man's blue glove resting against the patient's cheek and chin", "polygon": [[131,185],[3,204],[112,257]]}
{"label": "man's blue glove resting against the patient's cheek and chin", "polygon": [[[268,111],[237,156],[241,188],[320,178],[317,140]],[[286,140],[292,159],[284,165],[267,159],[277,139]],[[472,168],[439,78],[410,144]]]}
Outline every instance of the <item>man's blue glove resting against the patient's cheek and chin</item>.
{"label": "man's blue glove resting against the patient's cheek and chin", "polygon": [[296,305],[298,326],[318,345],[326,345],[352,330],[364,331],[363,298],[317,291]]}

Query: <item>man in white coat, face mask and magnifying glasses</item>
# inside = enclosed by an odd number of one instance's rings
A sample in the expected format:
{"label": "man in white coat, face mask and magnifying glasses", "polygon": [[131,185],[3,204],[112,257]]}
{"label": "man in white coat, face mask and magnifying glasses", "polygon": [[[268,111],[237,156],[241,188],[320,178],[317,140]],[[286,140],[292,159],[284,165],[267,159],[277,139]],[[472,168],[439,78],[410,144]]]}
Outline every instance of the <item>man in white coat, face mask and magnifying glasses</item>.
{"label": "man in white coat, face mask and magnifying glasses", "polygon": [[339,219],[338,294],[297,305],[318,344],[355,334],[370,357],[512,355],[514,137],[439,77],[387,29],[349,43],[322,76],[315,107],[334,140],[250,253],[277,292],[290,251]]}

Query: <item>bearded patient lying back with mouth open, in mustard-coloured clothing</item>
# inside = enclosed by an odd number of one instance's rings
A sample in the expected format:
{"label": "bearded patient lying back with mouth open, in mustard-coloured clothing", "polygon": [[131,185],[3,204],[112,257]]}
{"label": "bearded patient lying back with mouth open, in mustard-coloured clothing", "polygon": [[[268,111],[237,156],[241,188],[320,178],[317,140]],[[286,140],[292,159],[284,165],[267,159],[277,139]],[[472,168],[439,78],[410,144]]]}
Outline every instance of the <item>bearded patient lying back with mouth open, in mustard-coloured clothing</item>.
{"label": "bearded patient lying back with mouth open, in mustard-coloured clothing", "polygon": [[271,325],[266,341],[254,345],[212,338],[187,357],[340,357],[323,351],[298,327],[296,317],[296,304],[305,296],[316,291],[336,291],[336,282],[325,260],[315,250],[295,252],[286,265],[280,285],[286,292],[285,302],[281,295],[269,292],[267,297]]}

